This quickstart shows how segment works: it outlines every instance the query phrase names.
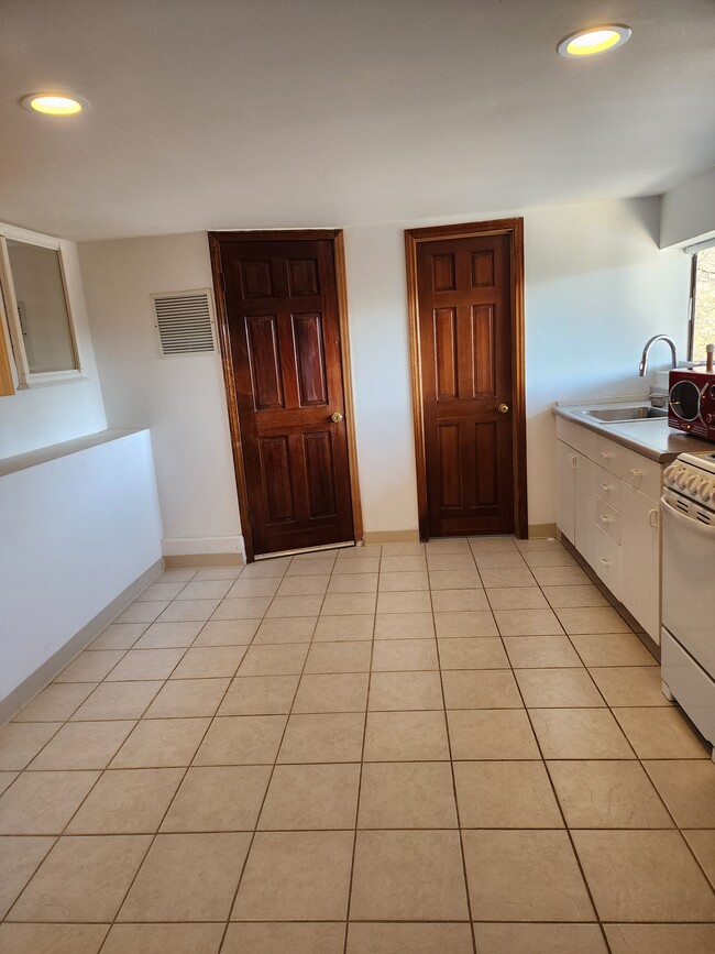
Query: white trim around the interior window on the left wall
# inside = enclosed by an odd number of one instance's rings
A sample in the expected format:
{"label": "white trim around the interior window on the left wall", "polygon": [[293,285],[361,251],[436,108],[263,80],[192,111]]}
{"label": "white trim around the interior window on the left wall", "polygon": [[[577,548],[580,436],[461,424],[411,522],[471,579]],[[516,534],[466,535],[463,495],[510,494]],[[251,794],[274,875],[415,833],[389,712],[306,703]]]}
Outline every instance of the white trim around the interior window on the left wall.
{"label": "white trim around the interior window on the left wall", "polygon": [[[72,344],[73,354],[75,358],[76,368],[68,371],[46,371],[33,373],[28,364],[28,355],[20,327],[20,316],[18,314],[18,299],[15,297],[14,283],[12,281],[12,271],[10,268],[10,256],[8,255],[8,239],[14,239],[18,242],[25,242],[29,245],[40,245],[43,249],[54,249],[59,257],[59,275],[62,287],[65,295],[65,305],[67,307],[67,319],[69,322],[69,341]],[[2,290],[2,300],[4,301],[4,318],[10,332],[10,342],[12,344],[12,359],[14,370],[18,376],[18,390],[29,387],[46,387],[52,384],[65,384],[72,381],[81,381],[81,357],[77,342],[77,332],[75,328],[75,316],[73,314],[72,301],[68,293],[67,275],[65,273],[65,255],[62,239],[55,239],[51,235],[43,235],[40,232],[31,232],[28,229],[19,229],[15,226],[0,224],[0,286]]]}

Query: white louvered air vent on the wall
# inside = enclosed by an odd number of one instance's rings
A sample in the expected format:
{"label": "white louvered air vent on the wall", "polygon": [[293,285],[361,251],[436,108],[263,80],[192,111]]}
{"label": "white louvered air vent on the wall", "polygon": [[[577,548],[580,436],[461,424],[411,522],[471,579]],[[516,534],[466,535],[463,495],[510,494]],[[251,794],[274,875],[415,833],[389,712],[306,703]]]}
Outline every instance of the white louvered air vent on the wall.
{"label": "white louvered air vent on the wall", "polygon": [[162,354],[198,354],[216,350],[209,290],[176,292],[154,295],[153,298]]}

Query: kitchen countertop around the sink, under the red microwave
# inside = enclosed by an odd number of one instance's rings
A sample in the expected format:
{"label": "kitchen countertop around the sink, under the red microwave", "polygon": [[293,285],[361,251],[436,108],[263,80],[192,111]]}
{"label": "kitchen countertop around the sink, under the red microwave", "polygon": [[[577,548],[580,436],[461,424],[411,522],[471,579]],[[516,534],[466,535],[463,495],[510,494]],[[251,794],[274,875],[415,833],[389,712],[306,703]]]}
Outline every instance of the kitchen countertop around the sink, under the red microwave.
{"label": "kitchen countertop around the sink, under the red microwave", "polygon": [[642,395],[625,396],[619,399],[606,401],[563,401],[553,405],[553,413],[564,420],[580,424],[588,430],[594,430],[603,437],[610,438],[616,443],[642,453],[659,463],[670,463],[679,453],[715,452],[715,445],[701,440],[682,430],[668,426],[668,418],[648,418],[644,420],[622,420],[601,423],[586,417],[584,412],[590,408],[617,408],[627,405],[648,406],[648,399]]}

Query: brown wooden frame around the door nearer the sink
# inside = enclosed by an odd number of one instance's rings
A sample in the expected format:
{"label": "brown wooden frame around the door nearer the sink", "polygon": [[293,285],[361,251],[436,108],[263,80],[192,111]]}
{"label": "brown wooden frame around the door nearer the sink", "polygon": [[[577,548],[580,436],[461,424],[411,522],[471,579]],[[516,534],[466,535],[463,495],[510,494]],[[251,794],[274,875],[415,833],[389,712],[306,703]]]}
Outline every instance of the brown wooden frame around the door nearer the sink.
{"label": "brown wooden frame around the door nearer the sink", "polygon": [[507,235],[512,274],[512,385],[514,460],[514,529],[517,538],[529,535],[527,514],[526,463],[526,374],[524,326],[524,219],[494,219],[488,222],[462,222],[405,231],[407,267],[407,317],[409,324],[409,358],[413,385],[413,421],[415,426],[415,461],[417,464],[417,507],[419,538],[429,539],[427,512],[427,458],[425,449],[425,405],[422,396],[422,357],[419,340],[419,298],[417,287],[417,246],[442,239],[471,239],[479,235]]}

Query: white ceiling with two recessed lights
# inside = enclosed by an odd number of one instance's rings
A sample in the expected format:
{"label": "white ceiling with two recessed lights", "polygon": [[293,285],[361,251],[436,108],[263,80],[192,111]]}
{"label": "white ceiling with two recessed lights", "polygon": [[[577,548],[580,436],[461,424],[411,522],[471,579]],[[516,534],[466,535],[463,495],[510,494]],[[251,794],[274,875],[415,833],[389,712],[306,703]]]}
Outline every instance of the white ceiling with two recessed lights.
{"label": "white ceiling with two recessed lights", "polygon": [[[557,42],[627,23],[588,62]],[[77,240],[659,194],[715,163],[712,0],[1,0],[0,219]],[[89,113],[48,119],[28,92]]]}

